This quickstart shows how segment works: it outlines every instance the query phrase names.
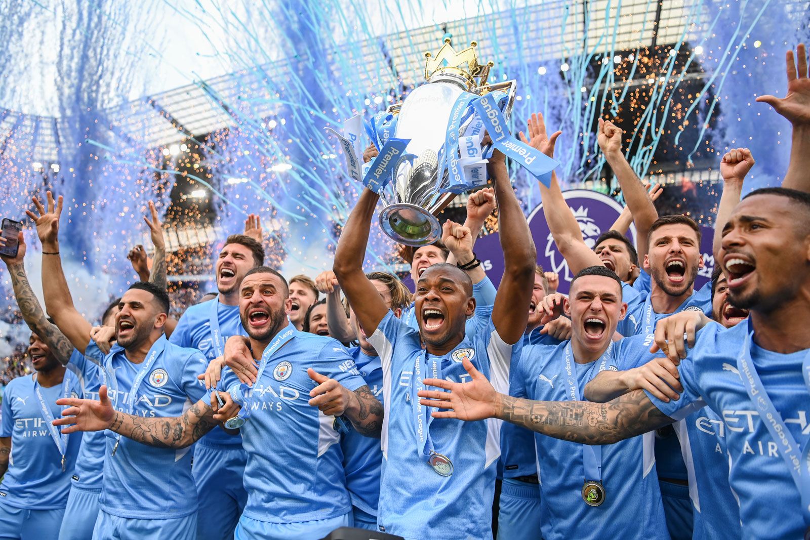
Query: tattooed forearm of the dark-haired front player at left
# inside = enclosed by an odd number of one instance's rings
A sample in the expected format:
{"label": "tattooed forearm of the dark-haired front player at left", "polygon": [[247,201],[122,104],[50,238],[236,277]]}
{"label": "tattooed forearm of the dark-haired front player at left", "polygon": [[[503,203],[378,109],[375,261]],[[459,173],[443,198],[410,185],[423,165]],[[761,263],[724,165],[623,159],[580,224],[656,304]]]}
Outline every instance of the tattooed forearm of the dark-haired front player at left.
{"label": "tattooed forearm of the dark-haired front player at left", "polygon": [[174,418],[143,418],[115,411],[110,430],[157,448],[181,449],[194,444],[216,425],[214,412],[202,400]]}

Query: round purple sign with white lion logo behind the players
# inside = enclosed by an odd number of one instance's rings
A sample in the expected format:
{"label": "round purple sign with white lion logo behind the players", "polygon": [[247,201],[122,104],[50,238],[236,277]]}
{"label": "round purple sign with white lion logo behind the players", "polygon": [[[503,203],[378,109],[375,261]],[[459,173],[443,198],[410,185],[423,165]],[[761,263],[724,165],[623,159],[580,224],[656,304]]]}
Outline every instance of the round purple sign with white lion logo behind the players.
{"label": "round purple sign with white lion logo behind the players", "polygon": [[[607,195],[588,189],[571,189],[563,192],[563,196],[579,223],[582,239],[590,249],[593,249],[599,235],[608,231],[619,217],[622,206]],[[543,266],[543,270],[560,274],[558,291],[568,294],[573,274],[569,270],[568,263],[556,249],[552,233],[548,230],[542,204],[532,210],[528,222],[531,236],[535,239],[537,247],[537,262]],[[635,227],[630,227],[627,236],[630,241],[635,243]],[[475,244],[475,251],[480,253],[479,257],[483,261],[484,270],[487,271],[489,279],[492,279],[492,283],[497,286],[503,275],[503,254],[498,235],[491,234],[478,240],[478,243]]]}

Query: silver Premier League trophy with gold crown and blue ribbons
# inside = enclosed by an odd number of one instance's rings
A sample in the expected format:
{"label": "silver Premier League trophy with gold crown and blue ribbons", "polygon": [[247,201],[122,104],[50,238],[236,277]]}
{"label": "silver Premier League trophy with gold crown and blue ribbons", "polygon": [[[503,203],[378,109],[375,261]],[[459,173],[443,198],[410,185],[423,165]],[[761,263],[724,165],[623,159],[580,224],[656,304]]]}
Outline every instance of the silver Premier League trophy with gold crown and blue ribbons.
{"label": "silver Premier League trophy with gold crown and blue ribbons", "polygon": [[[475,41],[457,53],[445,39],[436,57],[425,53],[425,82],[400,104],[365,123],[379,149],[361,174],[360,118],[337,135],[349,176],[380,194],[380,226],[400,244],[421,246],[441,237],[436,215],[458,194],[487,183],[493,147],[518,160],[535,176],[549,176],[556,161],[509,135],[506,121],[517,83],[488,83],[492,62],[480,64]],[[329,130],[327,128],[327,130]],[[482,147],[487,132],[492,142]],[[548,178],[545,178],[548,182]]]}

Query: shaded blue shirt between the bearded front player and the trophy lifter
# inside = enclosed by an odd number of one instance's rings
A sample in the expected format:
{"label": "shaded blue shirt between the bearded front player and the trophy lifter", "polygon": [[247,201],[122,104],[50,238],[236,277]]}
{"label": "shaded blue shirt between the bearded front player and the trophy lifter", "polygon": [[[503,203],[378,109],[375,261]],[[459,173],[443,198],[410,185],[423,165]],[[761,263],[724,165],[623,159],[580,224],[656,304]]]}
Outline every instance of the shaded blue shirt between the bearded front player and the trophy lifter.
{"label": "shaded blue shirt between the bearded front player and the trophy lifter", "polygon": [[[360,376],[374,396],[384,403],[382,394],[382,364],[379,356],[369,356],[360,347],[349,349]],[[382,447],[380,440],[363,436],[346,422],[347,433],[340,437],[343,450],[343,470],[346,472],[346,487],[352,505],[372,516],[377,515],[380,500],[380,477],[382,476]]]}

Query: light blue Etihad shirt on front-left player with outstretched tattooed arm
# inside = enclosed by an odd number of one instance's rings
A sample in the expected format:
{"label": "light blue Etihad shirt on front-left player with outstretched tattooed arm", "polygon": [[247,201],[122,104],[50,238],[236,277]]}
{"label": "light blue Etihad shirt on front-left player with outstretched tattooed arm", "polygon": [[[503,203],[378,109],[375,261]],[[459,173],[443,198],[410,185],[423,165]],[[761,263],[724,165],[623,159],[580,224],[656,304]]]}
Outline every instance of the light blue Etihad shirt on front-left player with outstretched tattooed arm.
{"label": "light blue Etihad shirt on front-left player with outstretched tattooed arm", "polygon": [[[208,362],[197,349],[177,347],[164,336],[152,344],[141,364],[130,362],[120,347],[109,352],[104,368],[110,379],[115,378],[109,398],[117,410],[127,412],[126,401],[135,376],[155,351],[155,361],[137,390],[132,414],[182,416],[207,395],[197,376],[205,372]],[[118,436],[109,430],[105,433],[104,487],[99,499],[104,512],[134,519],[171,519],[197,512],[189,448],[163,449],[121,437],[113,456]]]}

